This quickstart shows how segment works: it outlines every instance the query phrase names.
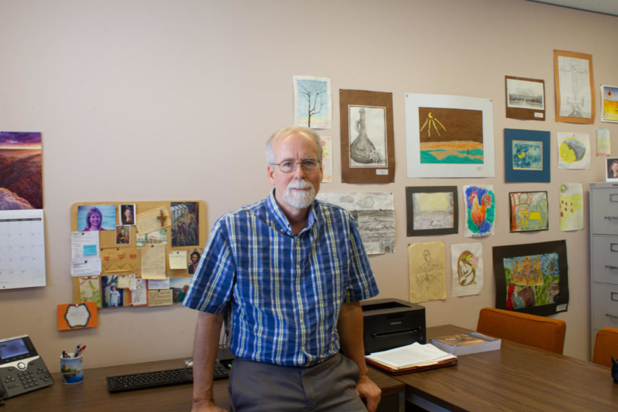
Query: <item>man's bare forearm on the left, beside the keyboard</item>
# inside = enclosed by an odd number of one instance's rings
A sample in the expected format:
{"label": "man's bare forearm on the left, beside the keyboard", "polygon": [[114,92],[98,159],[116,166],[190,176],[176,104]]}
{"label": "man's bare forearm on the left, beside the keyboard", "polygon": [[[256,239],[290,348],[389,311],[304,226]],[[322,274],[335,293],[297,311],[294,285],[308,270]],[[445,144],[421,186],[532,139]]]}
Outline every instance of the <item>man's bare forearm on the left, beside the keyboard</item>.
{"label": "man's bare forearm on the left, beside the keyboard", "polygon": [[212,382],[223,314],[200,312],[193,343],[193,403],[212,402]]}

